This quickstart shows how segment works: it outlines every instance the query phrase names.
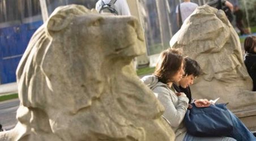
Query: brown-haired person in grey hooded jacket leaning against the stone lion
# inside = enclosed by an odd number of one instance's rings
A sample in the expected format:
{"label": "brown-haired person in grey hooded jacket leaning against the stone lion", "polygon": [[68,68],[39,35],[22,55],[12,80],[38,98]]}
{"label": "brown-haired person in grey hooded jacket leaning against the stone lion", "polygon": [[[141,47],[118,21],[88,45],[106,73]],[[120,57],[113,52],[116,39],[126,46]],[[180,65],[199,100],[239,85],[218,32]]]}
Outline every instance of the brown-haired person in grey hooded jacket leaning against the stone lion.
{"label": "brown-haired person in grey hooded jacket leaning against the stone lion", "polygon": [[[183,119],[189,105],[189,99],[183,92],[176,95],[177,91],[173,88],[173,83],[180,82],[184,73],[184,58],[181,50],[167,49],[160,53],[153,75],[144,76],[141,79],[144,84],[152,89],[157,99],[163,104],[165,108],[163,117],[172,126],[176,134],[176,141],[184,140],[187,136]],[[197,141],[234,141],[229,137],[193,137],[192,140]]]}

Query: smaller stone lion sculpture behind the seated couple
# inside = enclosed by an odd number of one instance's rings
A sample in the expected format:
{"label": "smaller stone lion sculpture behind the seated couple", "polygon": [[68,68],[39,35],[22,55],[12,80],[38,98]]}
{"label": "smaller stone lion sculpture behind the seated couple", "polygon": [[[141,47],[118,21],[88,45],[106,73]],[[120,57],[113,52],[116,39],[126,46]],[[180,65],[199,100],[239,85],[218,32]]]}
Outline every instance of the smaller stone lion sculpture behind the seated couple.
{"label": "smaller stone lion sculpture behind the seated couple", "polygon": [[256,105],[253,83],[244,65],[240,40],[224,11],[204,5],[186,19],[170,40],[171,48],[199,62],[203,70],[191,87],[195,99],[229,102],[232,110]]}

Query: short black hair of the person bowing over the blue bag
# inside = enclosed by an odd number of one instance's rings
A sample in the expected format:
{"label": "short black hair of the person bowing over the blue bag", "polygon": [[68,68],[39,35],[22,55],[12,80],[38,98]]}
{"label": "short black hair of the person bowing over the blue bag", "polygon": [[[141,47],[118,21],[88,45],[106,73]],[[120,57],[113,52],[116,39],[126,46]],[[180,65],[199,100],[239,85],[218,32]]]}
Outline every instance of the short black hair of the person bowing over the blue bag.
{"label": "short black hair of the person bowing over the blue bag", "polygon": [[189,57],[185,57],[185,76],[194,75],[199,76],[202,73],[202,69],[197,61]]}

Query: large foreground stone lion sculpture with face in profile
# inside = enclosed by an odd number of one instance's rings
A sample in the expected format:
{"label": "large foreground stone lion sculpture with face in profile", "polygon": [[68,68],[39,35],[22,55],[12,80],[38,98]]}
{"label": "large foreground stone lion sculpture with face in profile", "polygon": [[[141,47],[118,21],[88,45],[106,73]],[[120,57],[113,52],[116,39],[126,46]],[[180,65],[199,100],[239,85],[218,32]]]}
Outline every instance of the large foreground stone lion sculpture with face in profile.
{"label": "large foreground stone lion sculpture with face in profile", "polygon": [[18,123],[0,140],[174,140],[163,106],[131,65],[144,52],[132,16],[58,7],[19,63]]}

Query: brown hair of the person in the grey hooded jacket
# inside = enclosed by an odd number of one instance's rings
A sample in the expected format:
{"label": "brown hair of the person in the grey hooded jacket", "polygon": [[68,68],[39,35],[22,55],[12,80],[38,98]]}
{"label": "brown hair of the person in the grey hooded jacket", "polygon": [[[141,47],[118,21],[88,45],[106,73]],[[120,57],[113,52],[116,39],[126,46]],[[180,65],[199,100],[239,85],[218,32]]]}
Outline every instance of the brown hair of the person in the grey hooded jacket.
{"label": "brown hair of the person in the grey hooded jacket", "polygon": [[184,62],[181,49],[167,49],[160,53],[153,75],[162,83],[172,82],[172,77],[181,68]]}

